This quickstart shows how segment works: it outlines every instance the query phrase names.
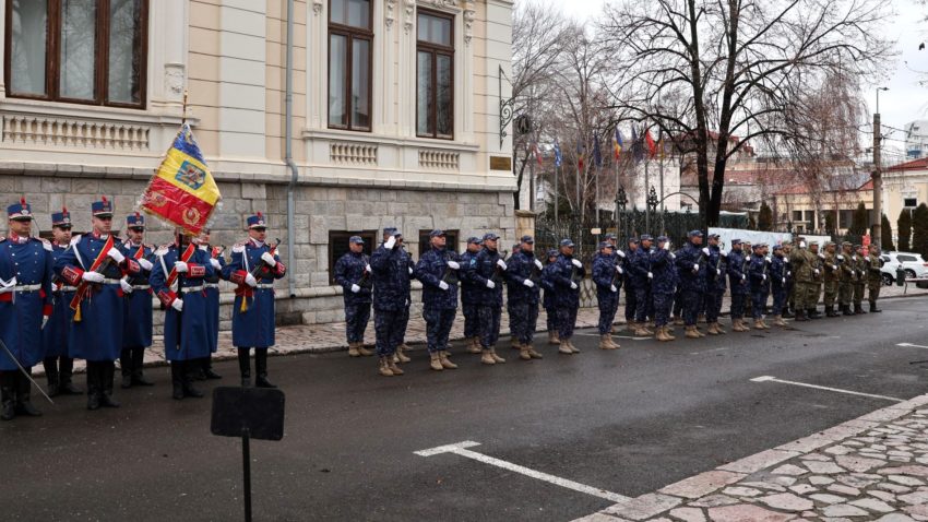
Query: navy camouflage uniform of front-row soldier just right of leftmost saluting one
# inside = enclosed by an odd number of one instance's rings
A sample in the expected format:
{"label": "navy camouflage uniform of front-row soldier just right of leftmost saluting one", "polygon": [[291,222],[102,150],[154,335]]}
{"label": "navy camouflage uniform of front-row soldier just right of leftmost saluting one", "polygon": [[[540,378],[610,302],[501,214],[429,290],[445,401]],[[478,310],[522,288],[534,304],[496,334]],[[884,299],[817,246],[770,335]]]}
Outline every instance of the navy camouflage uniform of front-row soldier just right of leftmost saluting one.
{"label": "navy camouflage uniform of front-row soldier just right of leftmost saluting one", "polygon": [[[423,283],[423,319],[429,354],[448,349],[448,336],[457,313],[457,254],[444,248],[431,248],[416,263],[414,274]],[[447,287],[441,288],[441,283]]]}

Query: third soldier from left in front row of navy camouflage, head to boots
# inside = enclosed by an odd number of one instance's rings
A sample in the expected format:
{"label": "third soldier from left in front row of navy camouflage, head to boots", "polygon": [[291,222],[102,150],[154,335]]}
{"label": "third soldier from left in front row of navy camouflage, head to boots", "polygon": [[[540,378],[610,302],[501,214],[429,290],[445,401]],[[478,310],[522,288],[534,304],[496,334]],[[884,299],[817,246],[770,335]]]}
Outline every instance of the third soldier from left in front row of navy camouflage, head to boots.
{"label": "third soldier from left in front row of navy camouflage, head to boots", "polygon": [[502,316],[502,274],[505,261],[499,254],[499,236],[493,233],[484,235],[484,249],[471,260],[469,276],[479,288],[477,317],[480,324],[480,363],[495,365],[505,363],[497,355],[500,317]]}

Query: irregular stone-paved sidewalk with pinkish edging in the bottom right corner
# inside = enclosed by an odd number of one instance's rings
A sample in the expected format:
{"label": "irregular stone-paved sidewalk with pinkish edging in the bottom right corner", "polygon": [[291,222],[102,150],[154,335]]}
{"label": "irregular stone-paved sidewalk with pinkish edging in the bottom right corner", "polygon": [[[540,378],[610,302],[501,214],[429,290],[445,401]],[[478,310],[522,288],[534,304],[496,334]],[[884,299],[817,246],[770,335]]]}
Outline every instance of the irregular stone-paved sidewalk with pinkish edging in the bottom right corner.
{"label": "irregular stone-paved sidewalk with pinkish edging in the bottom right corner", "polygon": [[928,520],[928,395],[574,522]]}

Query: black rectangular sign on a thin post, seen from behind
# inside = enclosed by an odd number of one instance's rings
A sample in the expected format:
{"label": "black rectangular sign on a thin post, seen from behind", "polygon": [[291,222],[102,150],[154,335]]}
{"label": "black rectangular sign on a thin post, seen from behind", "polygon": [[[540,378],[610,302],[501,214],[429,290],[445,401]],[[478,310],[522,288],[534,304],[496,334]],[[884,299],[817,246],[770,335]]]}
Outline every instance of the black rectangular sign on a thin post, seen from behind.
{"label": "black rectangular sign on a thin post, seen from behind", "polygon": [[245,521],[251,522],[251,439],[284,438],[284,392],[269,388],[213,390],[213,435],[241,437]]}

